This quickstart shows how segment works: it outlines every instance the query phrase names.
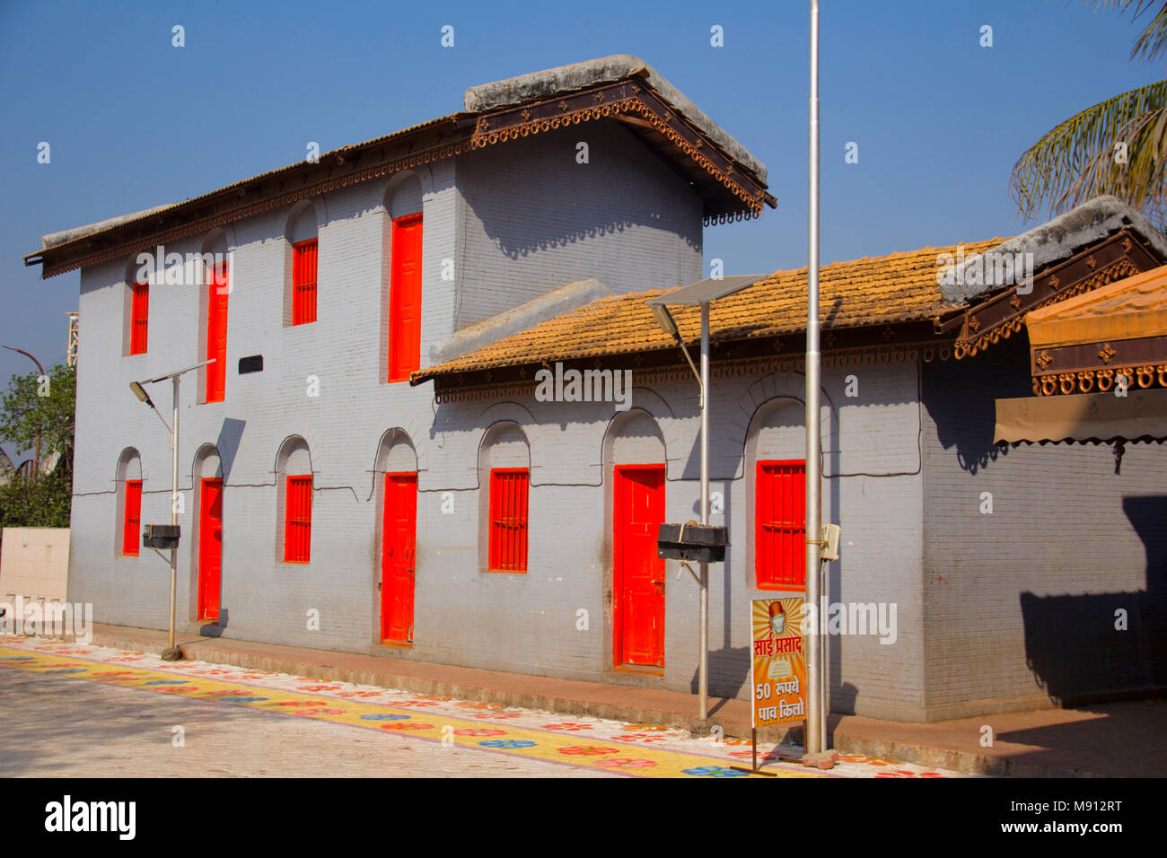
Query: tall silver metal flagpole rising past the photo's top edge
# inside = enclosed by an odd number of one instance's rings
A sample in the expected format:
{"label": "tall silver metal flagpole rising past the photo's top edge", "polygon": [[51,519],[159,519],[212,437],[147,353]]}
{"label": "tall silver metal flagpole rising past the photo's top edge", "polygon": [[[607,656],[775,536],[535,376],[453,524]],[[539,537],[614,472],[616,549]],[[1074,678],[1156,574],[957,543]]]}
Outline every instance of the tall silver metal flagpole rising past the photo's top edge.
{"label": "tall silver metal flagpole rising past the photo's top edge", "polygon": [[806,606],[815,628],[806,635],[806,740],[804,753],[825,749],[823,605],[819,570],[819,344],[818,344],[818,0],[810,0],[810,211],[806,277]]}

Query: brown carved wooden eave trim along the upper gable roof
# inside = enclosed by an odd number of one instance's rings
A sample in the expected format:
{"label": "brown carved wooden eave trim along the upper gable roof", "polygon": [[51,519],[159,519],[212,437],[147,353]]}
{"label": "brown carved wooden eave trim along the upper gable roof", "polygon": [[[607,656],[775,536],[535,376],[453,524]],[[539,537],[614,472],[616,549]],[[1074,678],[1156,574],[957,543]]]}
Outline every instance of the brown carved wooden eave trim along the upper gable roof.
{"label": "brown carved wooden eave trim along the upper gable roof", "polygon": [[594,119],[615,119],[691,180],[704,200],[705,224],[757,217],[776,200],[749,169],[727,154],[641,79],[617,81],[539,102],[485,112],[474,124],[471,148]]}

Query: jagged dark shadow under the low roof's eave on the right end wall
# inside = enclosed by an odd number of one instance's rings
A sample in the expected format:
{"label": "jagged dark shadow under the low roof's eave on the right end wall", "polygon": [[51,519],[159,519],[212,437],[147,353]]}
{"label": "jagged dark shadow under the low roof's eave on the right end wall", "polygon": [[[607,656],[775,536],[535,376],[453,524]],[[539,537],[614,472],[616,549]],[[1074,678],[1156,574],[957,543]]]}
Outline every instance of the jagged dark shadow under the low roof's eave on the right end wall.
{"label": "jagged dark shadow under the low roof's eave on the right end wall", "polygon": [[944,449],[956,449],[957,463],[976,474],[1008,447],[993,442],[997,399],[1032,396],[1028,341],[1013,336],[976,357],[923,364],[924,409],[936,424]]}

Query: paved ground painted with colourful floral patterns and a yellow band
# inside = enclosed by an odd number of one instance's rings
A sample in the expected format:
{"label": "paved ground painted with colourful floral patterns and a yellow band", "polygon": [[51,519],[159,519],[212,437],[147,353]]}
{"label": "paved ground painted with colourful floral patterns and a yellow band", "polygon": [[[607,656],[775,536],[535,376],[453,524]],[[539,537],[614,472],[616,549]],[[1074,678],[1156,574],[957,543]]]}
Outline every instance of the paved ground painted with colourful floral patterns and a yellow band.
{"label": "paved ground painted with colourful floral patterns and a yellow band", "polygon": [[[4,639],[0,699],[8,777],[747,777],[732,767],[753,753],[743,739],[40,639]],[[757,753],[780,777],[963,776],[861,755],[826,774]]]}

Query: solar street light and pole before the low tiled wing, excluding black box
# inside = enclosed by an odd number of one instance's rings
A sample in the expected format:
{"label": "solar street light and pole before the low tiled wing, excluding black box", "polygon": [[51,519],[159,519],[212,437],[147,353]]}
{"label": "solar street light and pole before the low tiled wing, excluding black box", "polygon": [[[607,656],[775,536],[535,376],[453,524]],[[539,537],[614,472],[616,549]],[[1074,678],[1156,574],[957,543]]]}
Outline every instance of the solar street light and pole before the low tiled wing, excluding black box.
{"label": "solar street light and pole before the low tiled wing, excluding black box", "polygon": [[[682,286],[664,295],[650,298],[644,302],[652,315],[656,316],[661,329],[671,336],[680,347],[682,354],[689,361],[689,365],[697,376],[700,388],[701,409],[701,524],[710,523],[710,304],[719,298],[726,298],[745,288],[749,288],[755,282],[766,279],[764,274],[745,274],[738,277],[725,277],[708,280],[700,280],[689,286]],[[677,321],[669,312],[669,306],[700,306],[701,308],[701,369],[693,364],[693,358],[689,356],[689,349],[682,340],[677,328]],[[700,576],[697,580],[700,591],[700,663],[698,668],[697,695],[698,695],[698,719],[708,719],[708,668],[710,668],[710,564],[700,564]]]}

